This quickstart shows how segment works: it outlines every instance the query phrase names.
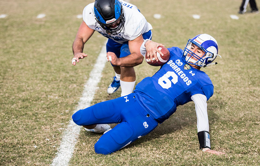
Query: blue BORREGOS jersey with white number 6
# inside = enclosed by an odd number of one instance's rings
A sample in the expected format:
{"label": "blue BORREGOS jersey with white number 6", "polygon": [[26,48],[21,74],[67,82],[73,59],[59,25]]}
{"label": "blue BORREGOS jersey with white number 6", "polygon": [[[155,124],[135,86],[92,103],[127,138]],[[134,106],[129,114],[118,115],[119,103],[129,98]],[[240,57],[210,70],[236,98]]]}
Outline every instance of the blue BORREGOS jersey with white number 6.
{"label": "blue BORREGOS jersey with white number 6", "polygon": [[178,105],[191,101],[191,96],[203,94],[207,100],[213,95],[209,76],[182,59],[182,50],[168,48],[170,58],[152,77],[137,84],[135,97],[141,106],[159,123],[168,119]]}

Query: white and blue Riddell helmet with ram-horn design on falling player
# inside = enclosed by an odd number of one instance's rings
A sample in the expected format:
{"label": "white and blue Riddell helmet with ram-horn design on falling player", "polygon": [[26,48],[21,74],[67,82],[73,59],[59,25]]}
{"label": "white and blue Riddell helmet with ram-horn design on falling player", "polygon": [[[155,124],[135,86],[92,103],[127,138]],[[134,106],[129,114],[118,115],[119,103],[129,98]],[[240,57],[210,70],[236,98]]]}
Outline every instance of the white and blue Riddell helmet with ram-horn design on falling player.
{"label": "white and blue Riddell helmet with ram-horn design on falling player", "polygon": [[[205,52],[202,57],[197,56],[190,50],[193,44]],[[218,43],[214,37],[208,34],[200,34],[188,40],[188,43],[183,50],[182,57],[188,64],[193,64],[199,67],[206,67],[217,64],[217,62],[212,62],[216,59],[217,56],[221,57],[218,55],[218,50]],[[188,53],[191,55],[190,57],[188,56]],[[194,60],[191,57],[195,57],[197,60]]]}

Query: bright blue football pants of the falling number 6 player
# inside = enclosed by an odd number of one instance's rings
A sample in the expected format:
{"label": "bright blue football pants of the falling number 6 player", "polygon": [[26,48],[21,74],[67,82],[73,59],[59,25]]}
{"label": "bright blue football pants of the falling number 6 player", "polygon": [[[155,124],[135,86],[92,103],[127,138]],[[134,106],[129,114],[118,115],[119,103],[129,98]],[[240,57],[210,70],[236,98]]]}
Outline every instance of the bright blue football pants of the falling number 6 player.
{"label": "bright blue football pants of the falling number 6 player", "polygon": [[95,144],[95,152],[110,154],[154,130],[155,121],[138,103],[134,93],[104,101],[72,115],[77,125],[119,123],[103,134]]}

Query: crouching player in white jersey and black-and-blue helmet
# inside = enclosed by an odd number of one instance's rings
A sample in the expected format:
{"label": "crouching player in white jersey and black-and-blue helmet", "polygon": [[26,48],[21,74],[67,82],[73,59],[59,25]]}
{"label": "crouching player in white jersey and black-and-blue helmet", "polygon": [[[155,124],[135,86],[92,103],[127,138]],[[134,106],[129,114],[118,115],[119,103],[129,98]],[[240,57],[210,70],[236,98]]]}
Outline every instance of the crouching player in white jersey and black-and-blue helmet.
{"label": "crouching player in white jersey and black-and-blue helmet", "polygon": [[136,80],[133,67],[143,62],[140,47],[144,39],[152,38],[151,29],[137,6],[120,0],[96,0],[83,10],[83,22],[72,45],[72,64],[87,56],[83,53],[84,44],[94,31],[99,32],[108,38],[107,60],[115,70],[107,93],[112,94],[121,86],[121,96],[126,96],[133,91]]}

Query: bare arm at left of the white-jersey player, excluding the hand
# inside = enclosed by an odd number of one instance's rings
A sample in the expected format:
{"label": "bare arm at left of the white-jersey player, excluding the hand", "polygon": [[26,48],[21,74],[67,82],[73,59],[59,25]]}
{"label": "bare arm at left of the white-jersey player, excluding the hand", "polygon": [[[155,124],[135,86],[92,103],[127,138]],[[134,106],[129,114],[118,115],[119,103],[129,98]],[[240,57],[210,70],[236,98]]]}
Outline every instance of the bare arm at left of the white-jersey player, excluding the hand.
{"label": "bare arm at left of the white-jersey player, excluding the hand", "polygon": [[95,31],[88,27],[83,21],[78,29],[77,35],[72,45],[73,54],[83,53],[84,44],[89,40]]}

